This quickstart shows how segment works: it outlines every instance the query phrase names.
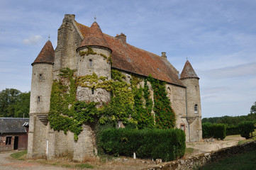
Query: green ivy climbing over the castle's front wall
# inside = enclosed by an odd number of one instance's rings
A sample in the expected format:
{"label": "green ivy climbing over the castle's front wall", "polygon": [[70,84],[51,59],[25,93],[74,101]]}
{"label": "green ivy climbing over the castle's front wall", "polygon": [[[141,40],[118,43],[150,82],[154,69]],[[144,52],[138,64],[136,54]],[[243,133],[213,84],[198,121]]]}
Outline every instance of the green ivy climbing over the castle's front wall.
{"label": "green ivy climbing over the castle's front wall", "polygon": [[[130,82],[127,82],[126,76],[116,69],[111,70],[112,79],[98,77],[95,73],[77,77],[76,70],[69,68],[61,69],[58,77],[52,84],[50,127],[65,133],[67,130],[74,132],[74,140],[78,139],[84,123],[116,125],[117,121],[122,121],[123,125],[138,129],[175,126],[175,114],[162,81],[131,75]],[[154,91],[154,104],[150,98],[149,82]],[[77,86],[110,91],[111,101],[77,101]]]}

